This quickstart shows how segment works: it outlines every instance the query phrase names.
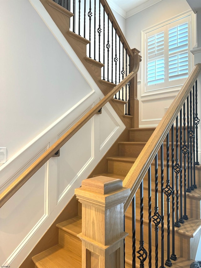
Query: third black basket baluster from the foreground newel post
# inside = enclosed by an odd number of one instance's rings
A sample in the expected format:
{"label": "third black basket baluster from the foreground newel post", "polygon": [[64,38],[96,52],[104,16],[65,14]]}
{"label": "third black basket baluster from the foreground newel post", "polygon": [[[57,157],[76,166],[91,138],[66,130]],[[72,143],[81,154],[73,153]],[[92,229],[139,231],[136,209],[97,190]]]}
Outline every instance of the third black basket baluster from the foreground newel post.
{"label": "third black basket baluster from the foreground newel post", "polygon": [[164,192],[167,197],[167,260],[165,265],[171,267],[172,262],[170,260],[170,196],[172,194],[172,188],[170,186],[170,167],[169,167],[169,133],[166,136],[166,155],[167,155],[167,178],[166,178],[166,187]]}

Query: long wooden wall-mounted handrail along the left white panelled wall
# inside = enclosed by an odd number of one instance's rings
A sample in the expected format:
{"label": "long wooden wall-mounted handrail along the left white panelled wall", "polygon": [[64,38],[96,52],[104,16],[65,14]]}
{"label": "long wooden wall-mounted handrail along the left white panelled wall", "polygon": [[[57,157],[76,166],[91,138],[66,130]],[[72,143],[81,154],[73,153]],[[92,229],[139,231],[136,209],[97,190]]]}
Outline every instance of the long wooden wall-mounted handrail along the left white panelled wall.
{"label": "long wooden wall-mounted handrail along the left white panelled wall", "polygon": [[89,121],[97,111],[100,110],[126,83],[130,81],[139,70],[141,56],[135,55],[135,64],[133,71],[128,74],[111,92],[109,92],[101,101],[99,101],[89,112],[87,112],[77,123],[73,125],[65,134],[62,135],[46,152],[44,152],[30,167],[28,167],[7,189],[0,194],[0,207],[10,199],[22,185],[28,181],[36,171],[42,167],[86,122]]}

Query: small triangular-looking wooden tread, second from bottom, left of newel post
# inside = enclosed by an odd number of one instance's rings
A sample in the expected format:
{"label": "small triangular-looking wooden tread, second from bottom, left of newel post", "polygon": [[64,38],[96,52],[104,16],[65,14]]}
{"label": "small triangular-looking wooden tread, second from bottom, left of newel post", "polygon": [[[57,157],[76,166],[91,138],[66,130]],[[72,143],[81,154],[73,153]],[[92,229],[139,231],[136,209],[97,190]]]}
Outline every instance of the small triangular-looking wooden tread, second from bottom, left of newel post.
{"label": "small triangular-looking wooden tread, second from bottom, left of newel post", "polygon": [[77,236],[77,234],[82,232],[82,217],[76,216],[65,222],[58,223],[57,227],[65,232]]}

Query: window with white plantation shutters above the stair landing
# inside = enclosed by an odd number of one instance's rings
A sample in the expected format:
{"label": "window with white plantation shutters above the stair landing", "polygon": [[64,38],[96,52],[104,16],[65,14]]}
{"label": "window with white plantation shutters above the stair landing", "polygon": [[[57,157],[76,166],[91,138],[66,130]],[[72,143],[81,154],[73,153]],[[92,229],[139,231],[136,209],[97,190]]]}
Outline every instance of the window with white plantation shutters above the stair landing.
{"label": "window with white plantation shutters above the stair landing", "polygon": [[181,87],[191,71],[192,12],[142,31],[144,93]]}

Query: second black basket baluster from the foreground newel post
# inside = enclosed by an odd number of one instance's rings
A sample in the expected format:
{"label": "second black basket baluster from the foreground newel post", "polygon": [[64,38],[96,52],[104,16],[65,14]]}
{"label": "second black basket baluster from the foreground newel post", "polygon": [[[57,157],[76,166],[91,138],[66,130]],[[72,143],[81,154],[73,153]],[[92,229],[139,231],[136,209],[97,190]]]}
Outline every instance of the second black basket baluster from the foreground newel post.
{"label": "second black basket baluster from the foreground newel post", "polygon": [[155,268],[158,268],[158,232],[159,224],[161,222],[161,216],[158,212],[158,153],[155,156],[155,207],[154,216],[152,216],[155,224]]}

